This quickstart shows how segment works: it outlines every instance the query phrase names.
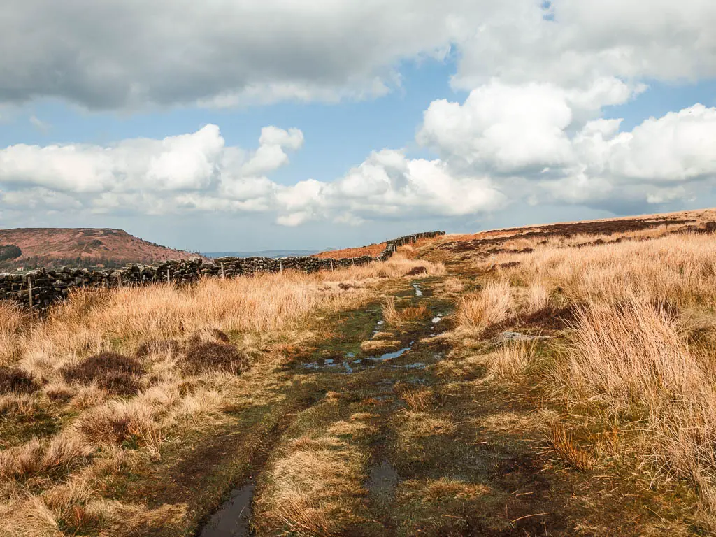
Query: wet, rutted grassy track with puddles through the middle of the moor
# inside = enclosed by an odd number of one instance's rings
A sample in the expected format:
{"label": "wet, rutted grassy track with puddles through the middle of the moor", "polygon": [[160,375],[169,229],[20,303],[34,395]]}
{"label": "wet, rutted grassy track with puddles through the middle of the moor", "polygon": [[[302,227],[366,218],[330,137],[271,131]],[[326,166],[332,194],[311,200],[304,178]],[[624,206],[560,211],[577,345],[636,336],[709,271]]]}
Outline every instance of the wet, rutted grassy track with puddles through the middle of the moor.
{"label": "wet, rutted grassy track with puddles through the middle of the moor", "polygon": [[654,535],[672,528],[657,499],[556,460],[537,402],[490,377],[484,349],[453,349],[444,286],[390,289],[392,319],[381,304],[326,319],[332,335],[286,366],[323,397],[272,446],[251,530],[240,516],[223,520],[234,533],[202,535],[644,535],[647,519]]}

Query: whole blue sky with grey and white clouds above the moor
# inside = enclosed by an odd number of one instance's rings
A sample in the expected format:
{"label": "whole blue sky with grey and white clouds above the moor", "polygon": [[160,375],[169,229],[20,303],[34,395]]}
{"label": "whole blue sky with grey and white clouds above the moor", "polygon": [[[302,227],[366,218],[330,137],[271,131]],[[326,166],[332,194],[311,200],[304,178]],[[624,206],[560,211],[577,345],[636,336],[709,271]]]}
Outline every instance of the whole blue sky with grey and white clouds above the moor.
{"label": "whole blue sky with grey and white clouds above the moor", "polygon": [[190,251],[716,205],[712,0],[25,0],[0,228]]}

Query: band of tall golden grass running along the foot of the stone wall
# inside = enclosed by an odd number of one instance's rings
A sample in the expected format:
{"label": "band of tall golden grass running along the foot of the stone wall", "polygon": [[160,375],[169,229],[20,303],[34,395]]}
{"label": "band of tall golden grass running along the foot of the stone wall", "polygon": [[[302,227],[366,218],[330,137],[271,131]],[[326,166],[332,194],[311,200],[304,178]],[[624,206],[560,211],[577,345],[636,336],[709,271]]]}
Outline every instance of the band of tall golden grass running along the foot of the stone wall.
{"label": "band of tall golden grass running along the foot of the stone wall", "polygon": [[[284,271],[205,279],[188,287],[79,291],[29,331],[21,345],[21,364],[38,379],[47,379],[57,367],[90,354],[135,352],[143,342],[180,338],[202,329],[279,332],[289,324],[300,324],[319,308],[358,306],[369,294],[367,283],[402,277],[416,266],[424,267],[427,274],[445,271],[440,263],[411,260],[397,253],[384,263],[316,274]],[[17,352],[9,344],[6,349],[6,353]]]}

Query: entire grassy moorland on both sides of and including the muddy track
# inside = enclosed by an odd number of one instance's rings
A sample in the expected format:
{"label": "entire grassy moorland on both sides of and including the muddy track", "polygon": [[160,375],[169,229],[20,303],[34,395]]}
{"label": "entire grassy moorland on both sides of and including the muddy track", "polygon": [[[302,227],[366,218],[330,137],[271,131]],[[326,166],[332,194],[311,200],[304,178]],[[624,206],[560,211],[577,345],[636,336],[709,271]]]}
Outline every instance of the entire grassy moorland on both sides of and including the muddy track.
{"label": "entire grassy moorland on both sides of and including the muddy track", "polygon": [[2,304],[0,534],[710,535],[715,220]]}

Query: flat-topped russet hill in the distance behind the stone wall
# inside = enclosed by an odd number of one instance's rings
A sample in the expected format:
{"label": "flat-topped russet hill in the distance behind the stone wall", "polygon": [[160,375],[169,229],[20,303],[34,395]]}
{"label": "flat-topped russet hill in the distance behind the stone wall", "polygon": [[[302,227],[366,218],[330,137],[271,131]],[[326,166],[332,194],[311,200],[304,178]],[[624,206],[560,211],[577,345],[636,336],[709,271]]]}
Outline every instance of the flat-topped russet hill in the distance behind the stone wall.
{"label": "flat-topped russet hill in the distance behind the stone wall", "polygon": [[[19,253],[19,255],[17,255]],[[59,266],[116,268],[198,254],[143,241],[121,229],[0,229],[0,271]]]}

